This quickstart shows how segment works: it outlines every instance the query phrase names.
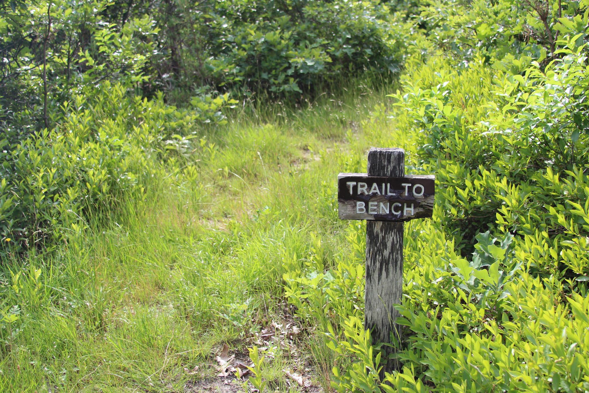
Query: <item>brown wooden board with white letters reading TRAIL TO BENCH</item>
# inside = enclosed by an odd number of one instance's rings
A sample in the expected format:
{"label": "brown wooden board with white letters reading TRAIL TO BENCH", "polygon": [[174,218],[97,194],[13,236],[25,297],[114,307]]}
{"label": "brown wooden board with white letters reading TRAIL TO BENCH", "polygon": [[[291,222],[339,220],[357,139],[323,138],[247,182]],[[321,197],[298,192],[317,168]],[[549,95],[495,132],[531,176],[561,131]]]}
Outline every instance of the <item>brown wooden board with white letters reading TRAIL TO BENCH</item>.
{"label": "brown wooden board with white letters reading TRAIL TO BENCH", "polygon": [[383,177],[340,173],[337,176],[339,218],[408,221],[431,217],[434,183],[434,175]]}

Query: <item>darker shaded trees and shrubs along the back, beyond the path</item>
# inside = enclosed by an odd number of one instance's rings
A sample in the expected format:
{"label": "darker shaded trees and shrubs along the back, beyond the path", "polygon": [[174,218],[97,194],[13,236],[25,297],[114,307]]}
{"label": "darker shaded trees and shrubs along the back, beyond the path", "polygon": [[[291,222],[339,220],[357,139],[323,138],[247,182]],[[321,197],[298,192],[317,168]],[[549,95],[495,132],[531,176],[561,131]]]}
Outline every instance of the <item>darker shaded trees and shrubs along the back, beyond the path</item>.
{"label": "darker shaded trees and shrubs along the back, beyond the path", "polygon": [[15,0],[0,11],[11,134],[51,129],[64,101],[105,80],[179,102],[211,89],[296,99],[334,77],[396,72],[406,45],[379,2]]}

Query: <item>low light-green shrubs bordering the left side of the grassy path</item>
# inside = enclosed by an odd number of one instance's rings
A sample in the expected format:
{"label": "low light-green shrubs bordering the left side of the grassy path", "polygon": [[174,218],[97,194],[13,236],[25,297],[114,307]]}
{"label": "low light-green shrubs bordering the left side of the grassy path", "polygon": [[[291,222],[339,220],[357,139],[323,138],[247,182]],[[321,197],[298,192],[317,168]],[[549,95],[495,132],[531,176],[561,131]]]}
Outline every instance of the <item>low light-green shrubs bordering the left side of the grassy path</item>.
{"label": "low light-green shrubs bordering the left side of the grassy path", "polygon": [[[104,82],[66,102],[54,130],[0,140],[2,249],[54,245],[123,193],[141,197],[145,181],[166,173],[162,161],[196,150],[194,127],[226,121],[220,109],[232,103],[227,95],[202,95],[178,110],[161,94],[130,97],[123,85]],[[172,170],[181,163],[174,160]]]}

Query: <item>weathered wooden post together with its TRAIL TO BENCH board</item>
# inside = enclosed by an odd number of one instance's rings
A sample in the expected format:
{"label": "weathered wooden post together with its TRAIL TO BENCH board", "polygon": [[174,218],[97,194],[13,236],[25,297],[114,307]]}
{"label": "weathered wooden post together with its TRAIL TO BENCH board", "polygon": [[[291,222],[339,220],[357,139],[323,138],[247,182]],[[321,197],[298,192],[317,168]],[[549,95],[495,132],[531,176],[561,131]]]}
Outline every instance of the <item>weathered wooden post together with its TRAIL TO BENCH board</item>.
{"label": "weathered wooden post together with its TRAIL TO BENCH board", "polygon": [[[435,176],[405,176],[405,150],[371,148],[368,173],[337,176],[339,218],[366,223],[366,295],[364,328],[376,342],[391,343],[391,332],[401,342],[394,323],[403,289],[403,222],[431,217]],[[383,358],[392,348],[383,346]],[[398,369],[396,362],[381,372]]]}

